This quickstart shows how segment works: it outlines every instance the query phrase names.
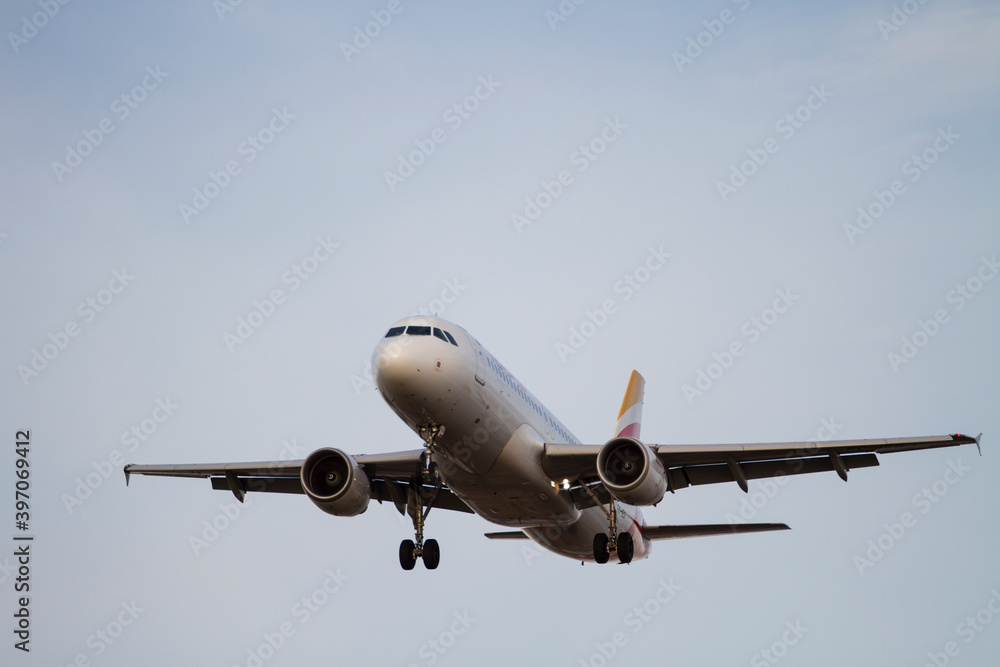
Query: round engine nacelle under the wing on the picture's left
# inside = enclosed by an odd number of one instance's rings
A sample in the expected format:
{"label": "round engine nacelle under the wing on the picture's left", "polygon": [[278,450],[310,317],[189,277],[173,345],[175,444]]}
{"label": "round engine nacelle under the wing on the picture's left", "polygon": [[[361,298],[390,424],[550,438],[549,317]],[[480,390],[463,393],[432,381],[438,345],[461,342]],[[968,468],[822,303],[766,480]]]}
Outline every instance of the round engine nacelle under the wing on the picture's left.
{"label": "round engine nacelle under the wing on the picture's left", "polygon": [[299,476],[306,495],[327,514],[355,516],[368,509],[368,476],[339,449],[317,449],[306,457]]}

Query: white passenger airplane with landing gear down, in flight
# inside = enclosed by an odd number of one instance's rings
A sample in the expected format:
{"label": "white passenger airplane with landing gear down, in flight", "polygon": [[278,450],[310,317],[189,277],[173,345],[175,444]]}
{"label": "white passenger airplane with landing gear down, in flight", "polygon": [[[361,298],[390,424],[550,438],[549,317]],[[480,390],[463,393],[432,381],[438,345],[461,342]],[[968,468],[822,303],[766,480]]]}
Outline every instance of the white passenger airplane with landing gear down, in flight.
{"label": "white passenger airplane with landing gear down, in flight", "polygon": [[423,441],[383,454],[323,447],[305,459],[256,463],[125,466],[131,475],[209,478],[243,502],[249,492],[305,494],[335,516],[357,516],[374,499],[413,522],[399,563],[437,568],[424,539],[432,508],[471,512],[510,530],[491,539],[531,539],[581,563],[631,563],[651,541],[787,530],[782,523],[647,525],[641,508],[667,491],[776,475],[879,465],[877,454],[952,447],[982,437],[943,436],[734,445],[653,445],[639,439],[645,380],[632,371],[613,436],[583,444],[468,331],[437,317],[393,324],[372,355],[379,393]]}

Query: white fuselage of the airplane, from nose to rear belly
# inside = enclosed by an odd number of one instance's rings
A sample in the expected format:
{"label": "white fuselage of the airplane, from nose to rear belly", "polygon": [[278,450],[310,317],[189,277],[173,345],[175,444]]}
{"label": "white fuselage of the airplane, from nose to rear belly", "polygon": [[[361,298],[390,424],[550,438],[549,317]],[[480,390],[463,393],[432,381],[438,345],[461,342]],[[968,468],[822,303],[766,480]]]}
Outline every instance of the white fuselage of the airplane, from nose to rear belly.
{"label": "white fuselage of the airplane, from nose to rear belly", "polygon": [[[564,480],[549,479],[541,466],[544,443],[579,441],[467,331],[433,317],[406,318],[389,331],[411,326],[428,333],[387,335],[375,348],[375,382],[415,432],[444,427],[432,459],[448,488],[488,521],[521,529],[563,556],[593,560],[594,535],[608,530],[604,509],[577,509]],[[614,505],[618,531],[632,534],[633,559],[645,558],[641,513]]]}

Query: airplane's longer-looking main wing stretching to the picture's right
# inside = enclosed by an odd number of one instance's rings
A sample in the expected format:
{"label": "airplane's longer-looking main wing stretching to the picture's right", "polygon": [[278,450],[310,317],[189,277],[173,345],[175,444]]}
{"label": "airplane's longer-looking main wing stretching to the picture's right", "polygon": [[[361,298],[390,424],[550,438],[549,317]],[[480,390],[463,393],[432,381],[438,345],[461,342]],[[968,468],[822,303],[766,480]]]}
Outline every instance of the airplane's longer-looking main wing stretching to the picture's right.
{"label": "airplane's longer-looking main wing stretching to the picture's right", "polygon": [[[720,482],[736,482],[746,492],[748,480],[780,475],[836,471],[847,481],[849,470],[877,466],[876,454],[972,443],[978,447],[981,437],[982,433],[974,438],[956,433],[878,440],[647,446],[663,463],[670,492]],[[570,493],[577,507],[594,505],[595,495],[601,502],[608,502],[610,498],[597,476],[596,461],[600,450],[601,445],[545,445],[542,468],[551,479],[571,483]]]}

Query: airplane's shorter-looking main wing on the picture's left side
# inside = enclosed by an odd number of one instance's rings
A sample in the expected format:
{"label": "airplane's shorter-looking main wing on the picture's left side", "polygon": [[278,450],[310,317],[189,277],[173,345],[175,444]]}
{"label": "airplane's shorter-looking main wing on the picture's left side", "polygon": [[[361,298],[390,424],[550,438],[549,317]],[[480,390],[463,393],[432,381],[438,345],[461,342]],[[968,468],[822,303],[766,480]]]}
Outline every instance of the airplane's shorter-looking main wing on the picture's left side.
{"label": "airplane's shorter-looking main wing on the picture's left side", "polygon": [[[422,449],[411,449],[388,454],[358,454],[351,458],[361,466],[368,477],[371,497],[379,503],[392,502],[400,514],[406,512],[406,491],[411,484],[418,484],[425,498],[432,496],[433,486],[419,482],[417,470],[422,466]],[[192,463],[187,465],[135,465],[125,466],[125,484],[132,475],[159,477],[208,478],[212,488],[232,491],[240,502],[248,492],[305,493],[300,474],[305,459],[294,461],[257,461],[253,463]],[[447,486],[442,486],[434,497],[432,507],[468,512],[472,510]]]}

